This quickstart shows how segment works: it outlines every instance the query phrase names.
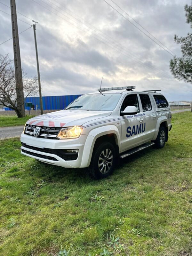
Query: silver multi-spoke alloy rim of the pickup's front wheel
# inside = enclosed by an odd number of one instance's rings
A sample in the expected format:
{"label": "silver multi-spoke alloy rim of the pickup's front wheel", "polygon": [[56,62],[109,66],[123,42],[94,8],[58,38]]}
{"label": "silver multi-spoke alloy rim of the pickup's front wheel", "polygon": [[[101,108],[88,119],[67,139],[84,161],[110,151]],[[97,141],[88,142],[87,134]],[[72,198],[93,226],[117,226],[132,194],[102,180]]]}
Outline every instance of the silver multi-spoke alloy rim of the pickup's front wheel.
{"label": "silver multi-spoke alloy rim of the pickup's front wheel", "polygon": [[104,149],[99,157],[98,167],[102,174],[108,173],[113,164],[113,153],[110,149]]}

